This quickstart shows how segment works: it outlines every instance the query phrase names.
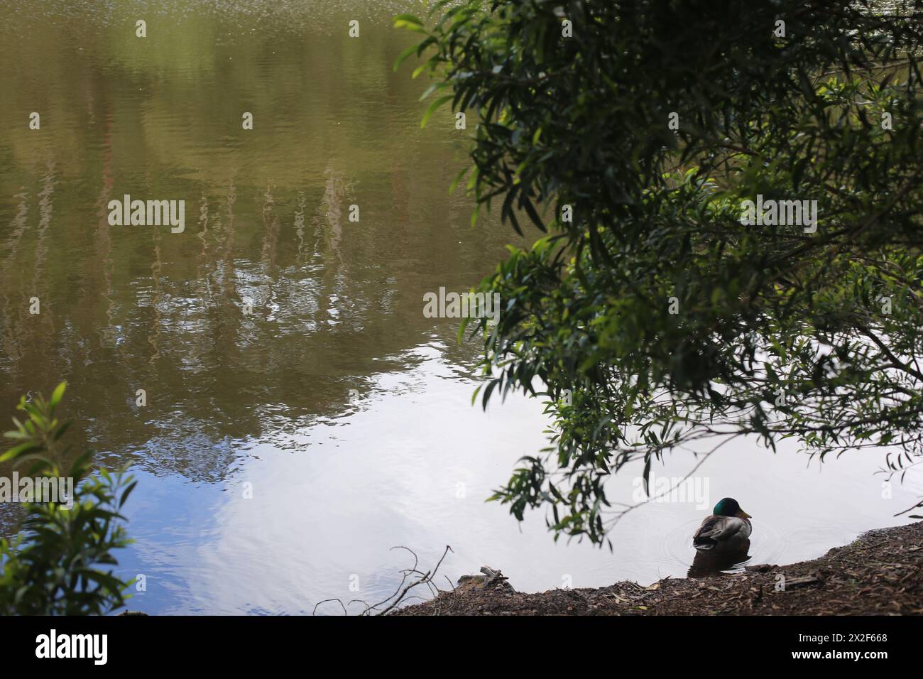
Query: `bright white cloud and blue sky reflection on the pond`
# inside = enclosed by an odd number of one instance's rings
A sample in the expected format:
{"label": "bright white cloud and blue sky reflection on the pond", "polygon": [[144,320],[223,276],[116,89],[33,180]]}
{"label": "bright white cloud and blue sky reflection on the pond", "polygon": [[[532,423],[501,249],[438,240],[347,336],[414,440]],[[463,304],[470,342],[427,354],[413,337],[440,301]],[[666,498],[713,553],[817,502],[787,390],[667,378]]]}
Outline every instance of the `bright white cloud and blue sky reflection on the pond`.
{"label": "bright white cloud and blue sky reflection on the pond", "polygon": [[[148,592],[129,607],[295,614],[330,598],[378,601],[411,564],[407,552],[390,551],[396,545],[417,552],[426,570],[450,544],[454,553],[441,572],[452,581],[489,564],[525,591],[561,587],[565,575],[574,587],[686,575],[690,537],[706,514],[694,504],[634,510],[613,532],[610,553],[588,543],[555,544],[541,514],[520,530],[505,507],[484,503],[521,455],[545,444],[545,418],[537,401],[519,396],[486,414],[470,406],[473,382],[458,376],[441,348],[417,347],[412,353],[425,358],[416,368],[376,376],[372,395],[350,415],[284,431],[276,444],[241,443],[248,450],[227,482],[142,477],[129,511],[138,544],[123,572],[150,576]],[[906,522],[892,515],[923,484],[917,475],[882,500],[880,478],[871,475],[882,459],[866,452],[807,467],[807,456],[790,448],[773,455],[739,442],[700,473],[712,504],[733,495],[754,516],[750,563],[787,564],[863,530]],[[655,473],[682,476],[693,463],[677,452]],[[640,470],[613,479],[611,499],[629,501]],[[252,500],[242,497],[244,481],[253,483]],[[357,592],[350,590],[354,575]],[[326,603],[318,613],[342,610]]]}

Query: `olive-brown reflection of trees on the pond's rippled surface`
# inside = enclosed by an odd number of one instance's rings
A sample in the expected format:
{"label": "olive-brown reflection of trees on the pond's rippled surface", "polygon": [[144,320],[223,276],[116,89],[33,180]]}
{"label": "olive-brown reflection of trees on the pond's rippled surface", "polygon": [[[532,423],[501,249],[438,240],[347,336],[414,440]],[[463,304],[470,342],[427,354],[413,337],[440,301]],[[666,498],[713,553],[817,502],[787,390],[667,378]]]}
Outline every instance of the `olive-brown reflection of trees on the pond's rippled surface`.
{"label": "olive-brown reflection of trees on the pond's rippled surface", "polygon": [[[39,42],[67,40],[33,28]],[[94,38],[89,67],[57,44],[0,74],[13,108],[27,107],[30,79],[54,98],[47,157],[14,132],[0,170],[17,188],[0,205],[0,416],[63,378],[83,423],[75,449],[211,480],[235,440],[341,415],[350,389],[413,365],[414,346],[437,337],[453,361],[471,358],[455,321],[423,317],[422,296],[474,285],[511,235],[472,228],[466,201],[446,195],[462,161],[444,132],[419,130],[422,84],[390,73],[400,33],[351,61],[345,34],[282,31],[272,50],[285,58],[268,74],[262,42],[228,60],[201,38],[208,22],[176,30],[191,31],[175,43],[185,55]],[[222,112],[254,102],[247,137]],[[124,193],[185,198],[186,232],[110,226],[108,201]]]}

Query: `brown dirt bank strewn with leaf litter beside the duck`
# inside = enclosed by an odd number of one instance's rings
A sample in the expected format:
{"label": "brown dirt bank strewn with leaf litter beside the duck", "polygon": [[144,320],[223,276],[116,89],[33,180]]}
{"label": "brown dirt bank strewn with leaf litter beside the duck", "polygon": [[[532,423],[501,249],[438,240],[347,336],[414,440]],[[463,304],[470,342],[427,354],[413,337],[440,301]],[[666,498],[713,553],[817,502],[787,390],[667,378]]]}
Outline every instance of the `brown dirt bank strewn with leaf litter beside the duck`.
{"label": "brown dirt bank strewn with leaf litter beside the duck", "polygon": [[[515,587],[515,574],[509,575]],[[923,613],[923,521],[881,528],[819,559],[743,573],[526,594],[456,588],[393,615],[856,615]]]}

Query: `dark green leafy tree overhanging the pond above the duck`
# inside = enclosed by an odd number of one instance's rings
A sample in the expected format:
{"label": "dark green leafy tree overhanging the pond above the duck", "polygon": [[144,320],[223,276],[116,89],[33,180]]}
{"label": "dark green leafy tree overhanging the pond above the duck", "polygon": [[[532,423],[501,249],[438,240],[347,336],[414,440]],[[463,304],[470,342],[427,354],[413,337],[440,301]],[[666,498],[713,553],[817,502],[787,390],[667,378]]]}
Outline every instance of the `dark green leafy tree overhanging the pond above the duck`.
{"label": "dark green leafy tree overhanging the pond above the duck", "polygon": [[514,515],[604,540],[606,477],[702,439],[920,462],[921,0],[468,0],[396,23],[425,36],[427,117],[477,115],[478,209],[547,234],[482,285],[502,300],[485,402],[545,390],[556,423],[497,492]]}

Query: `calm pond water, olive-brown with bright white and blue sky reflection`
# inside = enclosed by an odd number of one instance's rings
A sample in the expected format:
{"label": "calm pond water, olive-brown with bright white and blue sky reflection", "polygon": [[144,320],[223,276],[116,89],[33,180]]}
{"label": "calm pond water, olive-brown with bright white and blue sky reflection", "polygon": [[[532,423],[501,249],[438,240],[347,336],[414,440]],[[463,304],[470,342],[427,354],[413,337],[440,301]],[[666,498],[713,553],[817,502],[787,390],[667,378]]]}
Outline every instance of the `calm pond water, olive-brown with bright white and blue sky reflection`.
{"label": "calm pond water, olive-brown with bright white and blue sky reflection", "polygon": [[[489,564],[523,590],[648,583],[686,575],[690,536],[725,495],[754,516],[755,562],[905,523],[893,515],[923,482],[887,497],[883,454],[821,467],[746,442],[697,471],[707,503],[632,511],[614,552],[556,544],[542,515],[520,527],[484,502],[545,445],[542,404],[471,406],[477,346],[425,318],[423,295],[475,285],[521,241],[489,218],[472,227],[447,194],[462,133],[448,111],[421,130],[426,83],[391,71],[413,38],[390,18],[408,9],[0,1],[0,414],[66,379],[74,443],[131,465],[137,542],[119,573],[147,591],[130,608],[380,600],[409,565],[396,545],[426,566],[451,545],[453,581]],[[110,225],[125,194],[186,200],[185,231]],[[677,452],[655,474],[694,464]],[[631,502],[640,471],[613,499]],[[0,509],[8,534],[15,508]]]}

